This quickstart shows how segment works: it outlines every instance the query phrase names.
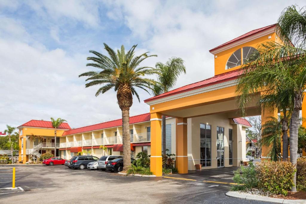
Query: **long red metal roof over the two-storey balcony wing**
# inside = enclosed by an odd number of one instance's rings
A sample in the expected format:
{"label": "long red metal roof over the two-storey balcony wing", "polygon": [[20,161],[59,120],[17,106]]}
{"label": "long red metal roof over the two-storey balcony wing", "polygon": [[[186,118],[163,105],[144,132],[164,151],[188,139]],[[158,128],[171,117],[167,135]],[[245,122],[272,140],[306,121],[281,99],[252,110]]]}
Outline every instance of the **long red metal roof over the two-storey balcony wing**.
{"label": "long red metal roof over the two-storey balcony wing", "polygon": [[[136,116],[131,116],[130,117],[130,124],[146,122],[146,121],[150,121],[150,113],[144,113],[144,114],[141,114],[141,115],[136,115]],[[107,121],[107,122],[104,122],[104,123],[89,125],[89,126],[85,126],[85,127],[81,127],[81,128],[75,128],[75,129],[72,129],[72,130],[65,131],[63,133],[63,136],[77,134],[77,133],[81,133],[81,132],[101,130],[101,129],[105,129],[105,128],[118,127],[118,126],[121,126],[121,125],[122,125],[122,119],[118,119],[118,120],[114,120],[114,121]]]}

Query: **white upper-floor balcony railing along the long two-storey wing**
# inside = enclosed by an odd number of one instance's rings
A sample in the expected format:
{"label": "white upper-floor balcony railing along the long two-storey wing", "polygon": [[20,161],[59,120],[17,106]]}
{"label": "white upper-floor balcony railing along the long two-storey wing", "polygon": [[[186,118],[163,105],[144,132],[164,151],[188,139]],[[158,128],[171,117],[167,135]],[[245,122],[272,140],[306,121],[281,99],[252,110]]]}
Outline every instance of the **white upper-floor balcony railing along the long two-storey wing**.
{"label": "white upper-floor balcony railing along the long two-storey wing", "polygon": [[[137,142],[150,142],[151,133],[140,133],[130,135],[131,143]],[[60,147],[82,147],[82,146],[98,146],[98,145],[111,145],[111,144],[122,144],[122,136],[104,137],[96,139],[78,140],[74,142],[61,143]]]}

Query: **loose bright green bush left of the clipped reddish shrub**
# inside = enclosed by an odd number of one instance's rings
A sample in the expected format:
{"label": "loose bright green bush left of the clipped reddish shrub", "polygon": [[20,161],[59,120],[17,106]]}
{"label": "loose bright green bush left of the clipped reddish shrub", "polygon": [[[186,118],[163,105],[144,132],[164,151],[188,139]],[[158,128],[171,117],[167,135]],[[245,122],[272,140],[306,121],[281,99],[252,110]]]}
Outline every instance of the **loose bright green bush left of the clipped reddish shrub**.
{"label": "loose bright green bush left of the clipped reddish shrub", "polygon": [[233,191],[251,189],[257,187],[258,179],[256,177],[256,168],[252,161],[248,167],[241,166],[240,169],[234,171],[233,180],[237,185],[232,187]]}

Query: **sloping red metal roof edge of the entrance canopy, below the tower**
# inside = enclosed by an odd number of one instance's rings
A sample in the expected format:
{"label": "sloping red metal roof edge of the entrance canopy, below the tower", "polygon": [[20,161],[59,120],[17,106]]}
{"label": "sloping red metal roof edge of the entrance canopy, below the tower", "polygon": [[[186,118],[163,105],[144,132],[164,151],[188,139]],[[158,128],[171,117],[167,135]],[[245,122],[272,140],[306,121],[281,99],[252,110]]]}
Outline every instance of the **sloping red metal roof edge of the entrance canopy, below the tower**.
{"label": "sloping red metal roof edge of the entrance canopy, below the tower", "polygon": [[240,69],[236,69],[236,70],[233,70],[233,71],[230,71],[230,72],[222,73],[222,74],[213,76],[211,78],[205,79],[203,81],[199,81],[199,82],[196,82],[196,83],[191,83],[191,84],[188,84],[186,86],[174,89],[172,91],[168,91],[168,92],[163,93],[161,95],[148,98],[148,99],[144,100],[144,102],[148,102],[148,101],[152,101],[152,100],[155,100],[155,99],[158,99],[158,98],[164,98],[166,96],[175,95],[175,94],[178,94],[178,93],[191,91],[191,90],[202,88],[202,87],[209,86],[209,85],[212,85],[212,84],[232,80],[232,79],[238,78],[238,76],[240,76],[241,74],[242,74],[242,70],[240,70]]}

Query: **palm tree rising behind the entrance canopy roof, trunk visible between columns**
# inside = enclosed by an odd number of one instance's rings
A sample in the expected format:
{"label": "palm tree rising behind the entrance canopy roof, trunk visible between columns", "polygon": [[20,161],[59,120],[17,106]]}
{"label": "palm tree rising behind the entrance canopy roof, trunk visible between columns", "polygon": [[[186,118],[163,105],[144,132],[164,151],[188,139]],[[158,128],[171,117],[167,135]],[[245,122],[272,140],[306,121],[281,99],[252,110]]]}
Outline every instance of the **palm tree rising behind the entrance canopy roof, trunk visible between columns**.
{"label": "palm tree rising behind the entrance canopy roof, trunk visible between columns", "polygon": [[[181,73],[186,74],[184,60],[180,57],[171,57],[163,64],[157,62],[155,68],[158,70],[158,82],[153,86],[153,94],[160,95],[170,91],[177,82],[177,78]],[[162,153],[166,154],[166,116],[162,116]]]}

